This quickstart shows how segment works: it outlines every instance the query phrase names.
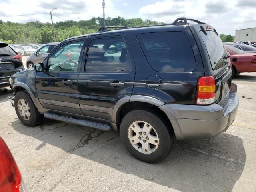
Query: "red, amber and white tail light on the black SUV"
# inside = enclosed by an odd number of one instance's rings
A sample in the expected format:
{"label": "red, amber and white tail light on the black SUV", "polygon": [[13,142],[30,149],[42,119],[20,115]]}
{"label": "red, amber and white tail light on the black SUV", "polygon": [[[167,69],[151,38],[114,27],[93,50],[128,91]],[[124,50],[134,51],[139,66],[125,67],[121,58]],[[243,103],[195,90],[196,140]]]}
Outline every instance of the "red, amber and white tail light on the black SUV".
{"label": "red, amber and white tail light on the black SUV", "polygon": [[215,79],[213,76],[204,76],[198,79],[196,104],[208,105],[215,100]]}

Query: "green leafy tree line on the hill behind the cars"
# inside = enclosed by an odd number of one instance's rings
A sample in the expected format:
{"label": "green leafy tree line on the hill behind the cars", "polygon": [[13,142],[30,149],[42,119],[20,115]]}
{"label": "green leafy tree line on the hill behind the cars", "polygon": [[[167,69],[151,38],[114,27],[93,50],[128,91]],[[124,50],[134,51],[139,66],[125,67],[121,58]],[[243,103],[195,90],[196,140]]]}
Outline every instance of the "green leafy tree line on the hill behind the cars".
{"label": "green leafy tree line on the hill behind the cars", "polygon": [[[123,17],[106,18],[106,26],[147,26],[164,24],[151,20],[142,20],[141,18],[125,19]],[[54,24],[56,41],[61,42],[67,38],[94,33],[100,26],[104,26],[102,17],[93,17],[90,20],[73,21],[67,20]],[[220,34],[223,42],[233,42],[234,37],[231,35]],[[231,40],[232,39],[232,40]],[[52,24],[32,21],[25,24],[14,22],[3,22],[0,20],[0,41],[12,43],[48,43],[53,42]]]}

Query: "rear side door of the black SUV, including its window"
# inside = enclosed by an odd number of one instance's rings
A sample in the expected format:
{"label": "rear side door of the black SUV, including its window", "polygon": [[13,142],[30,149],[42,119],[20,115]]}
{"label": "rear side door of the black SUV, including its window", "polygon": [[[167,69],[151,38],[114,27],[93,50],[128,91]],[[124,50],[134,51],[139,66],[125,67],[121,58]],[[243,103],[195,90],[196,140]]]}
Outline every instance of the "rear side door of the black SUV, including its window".
{"label": "rear side door of the black SUV, including its window", "polygon": [[85,116],[111,120],[118,100],[132,94],[135,69],[124,34],[90,37],[78,77],[79,103]]}

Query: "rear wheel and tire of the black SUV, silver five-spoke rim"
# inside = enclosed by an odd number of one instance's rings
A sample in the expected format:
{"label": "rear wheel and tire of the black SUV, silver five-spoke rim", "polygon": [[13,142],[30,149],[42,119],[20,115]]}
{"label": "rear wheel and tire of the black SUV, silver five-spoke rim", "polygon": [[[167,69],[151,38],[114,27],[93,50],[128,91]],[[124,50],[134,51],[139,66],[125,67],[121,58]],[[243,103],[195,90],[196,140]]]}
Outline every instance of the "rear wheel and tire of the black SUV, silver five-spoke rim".
{"label": "rear wheel and tire of the black SUV, silver five-spoke rim", "polygon": [[122,142],[138,160],[156,163],[162,161],[174,146],[174,134],[166,121],[146,110],[126,114],[120,125]]}

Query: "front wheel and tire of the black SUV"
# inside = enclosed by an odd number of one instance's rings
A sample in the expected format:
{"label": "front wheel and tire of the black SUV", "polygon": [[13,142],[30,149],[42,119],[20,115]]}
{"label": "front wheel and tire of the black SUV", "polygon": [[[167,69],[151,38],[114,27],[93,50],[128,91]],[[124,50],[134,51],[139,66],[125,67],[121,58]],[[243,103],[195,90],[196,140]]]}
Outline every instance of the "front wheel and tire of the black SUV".
{"label": "front wheel and tire of the black SUV", "polygon": [[23,91],[16,93],[14,107],[20,121],[27,126],[34,126],[42,122],[42,116],[34,105],[30,96]]}

